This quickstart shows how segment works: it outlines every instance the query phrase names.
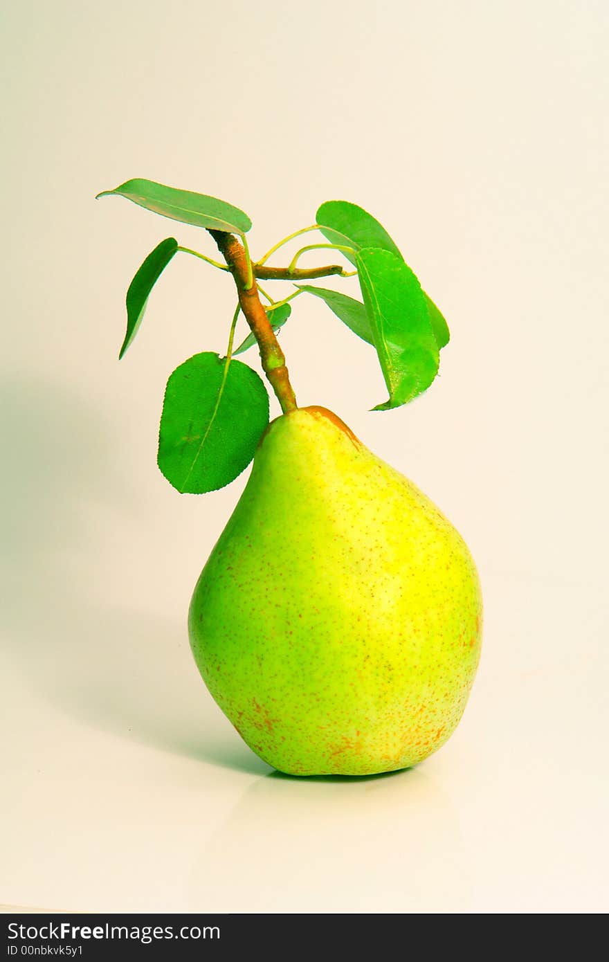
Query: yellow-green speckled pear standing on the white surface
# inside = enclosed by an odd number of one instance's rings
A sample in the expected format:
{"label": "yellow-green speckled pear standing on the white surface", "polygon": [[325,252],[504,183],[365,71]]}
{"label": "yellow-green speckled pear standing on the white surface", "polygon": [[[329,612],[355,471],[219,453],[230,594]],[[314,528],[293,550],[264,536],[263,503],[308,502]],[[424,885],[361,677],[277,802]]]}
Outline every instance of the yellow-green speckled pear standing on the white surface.
{"label": "yellow-green speckled pear standing on the white surface", "polygon": [[267,427],[189,633],[212,696],[269,765],[366,775],[409,768],[454,731],[481,622],[457,531],[310,407]]}

